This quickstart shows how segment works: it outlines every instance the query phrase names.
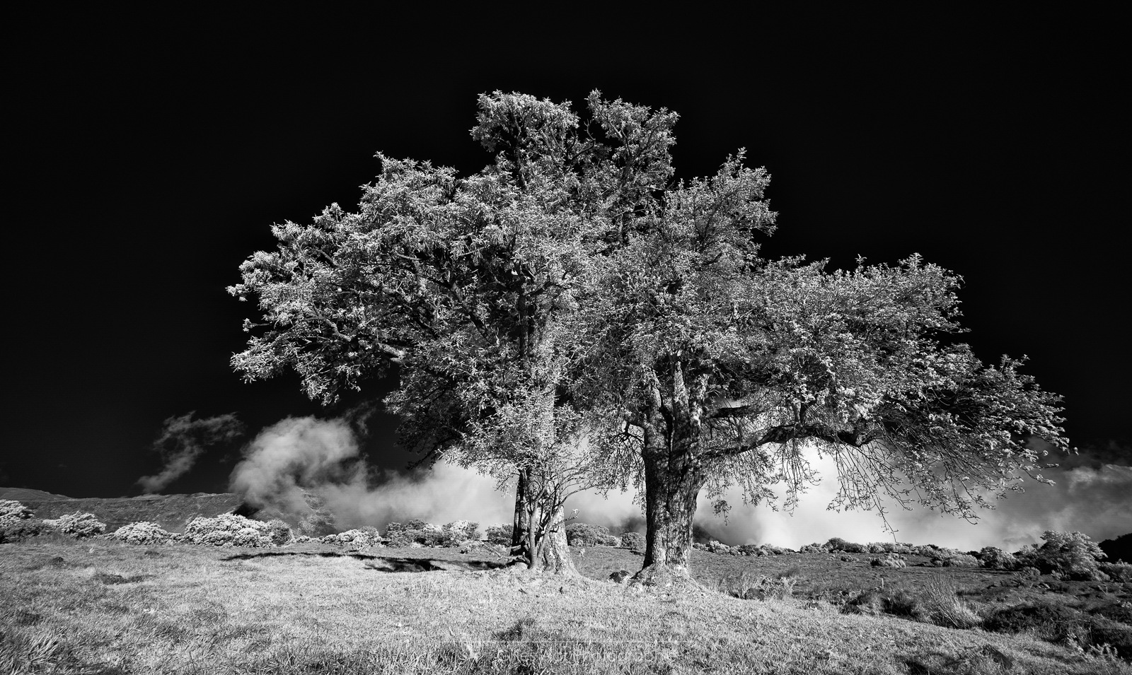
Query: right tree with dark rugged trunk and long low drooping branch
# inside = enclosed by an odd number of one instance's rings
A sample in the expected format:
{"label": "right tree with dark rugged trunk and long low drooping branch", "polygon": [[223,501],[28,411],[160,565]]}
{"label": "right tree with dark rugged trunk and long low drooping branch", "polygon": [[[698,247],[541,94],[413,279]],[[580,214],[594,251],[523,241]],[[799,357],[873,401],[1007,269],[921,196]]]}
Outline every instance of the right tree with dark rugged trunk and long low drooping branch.
{"label": "right tree with dark rugged trunk and long low drooping branch", "polygon": [[581,389],[620,410],[609,451],[643,464],[642,578],[687,574],[704,488],[737,483],[757,502],[784,482],[792,505],[815,477],[806,448],[837,461],[833,505],[883,513],[891,495],[974,518],[1036,468],[1031,436],[1066,445],[1060,399],[1020,361],[943,341],[962,330],[957,276],[918,256],[833,272],[761,258],[769,180],[740,152],[670,190],[584,303],[598,347]]}

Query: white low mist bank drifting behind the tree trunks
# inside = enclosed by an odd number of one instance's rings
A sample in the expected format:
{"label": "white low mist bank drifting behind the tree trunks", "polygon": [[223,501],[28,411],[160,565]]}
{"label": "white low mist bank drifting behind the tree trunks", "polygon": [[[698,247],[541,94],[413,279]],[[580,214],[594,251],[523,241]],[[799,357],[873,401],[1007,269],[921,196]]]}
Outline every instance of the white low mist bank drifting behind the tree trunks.
{"label": "white low mist bank drifting behind the tree trunks", "polygon": [[[894,535],[884,530],[875,510],[827,510],[837,493],[835,466],[827,457],[815,457],[813,466],[824,479],[800,495],[792,513],[767,504],[744,504],[743,495],[731,491],[724,494],[731,504],[726,520],[713,513],[711,500],[701,496],[696,525],[727,544],[790,548],[841,537],[860,543],[931,543],[963,551],[1015,549],[1039,542],[1049,529],[1083,531],[1099,542],[1132,530],[1127,523],[1132,466],[1126,466],[1126,459],[1124,464],[1107,461],[1129,457],[1121,452],[1100,452],[1098,461],[1090,457],[1082,451],[1067,467],[1045,470],[1056,485],[1027,481],[1026,492],[1010,492],[995,501],[995,509],[978,510],[976,523],[920,507],[906,511],[890,500],[886,518]],[[413,475],[374,470],[360,456],[357,430],[345,419],[286,418],[265,429],[245,450],[232,473],[231,488],[254,504],[291,513],[309,509],[303,492],[316,494],[334,512],[340,530],[367,525],[384,528],[389,521],[412,518],[436,523],[463,519],[487,527],[511,522],[514,512],[514,491],[497,491],[494,478],[473,469],[438,464]],[[567,512],[578,509],[578,521],[603,525],[616,535],[644,531],[634,496],[632,492],[586,492],[572,496],[566,508]]]}

